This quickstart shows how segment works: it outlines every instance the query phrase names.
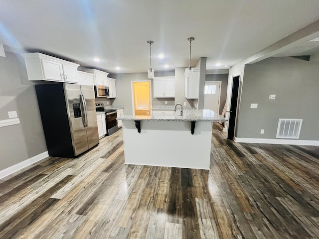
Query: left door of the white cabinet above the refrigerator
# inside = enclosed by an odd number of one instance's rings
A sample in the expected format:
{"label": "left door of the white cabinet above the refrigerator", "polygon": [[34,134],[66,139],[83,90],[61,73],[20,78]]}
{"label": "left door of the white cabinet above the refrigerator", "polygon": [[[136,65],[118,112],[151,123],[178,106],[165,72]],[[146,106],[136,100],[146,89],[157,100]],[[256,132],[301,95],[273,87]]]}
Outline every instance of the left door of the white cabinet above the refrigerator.
{"label": "left door of the white cabinet above the refrigerator", "polygon": [[56,61],[42,59],[44,79],[48,81],[64,81],[63,66]]}

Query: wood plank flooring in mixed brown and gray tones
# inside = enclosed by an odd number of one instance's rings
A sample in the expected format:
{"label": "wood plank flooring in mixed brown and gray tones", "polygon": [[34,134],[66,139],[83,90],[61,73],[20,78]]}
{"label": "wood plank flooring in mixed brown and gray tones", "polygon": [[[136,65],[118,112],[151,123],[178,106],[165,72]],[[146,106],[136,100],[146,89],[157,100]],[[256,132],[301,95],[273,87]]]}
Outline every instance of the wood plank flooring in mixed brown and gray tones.
{"label": "wood plank flooring in mixed brown and gray tones", "polygon": [[0,238],[319,238],[319,147],[235,143],[221,129],[210,170],[125,165],[119,130],[12,174],[0,181]]}

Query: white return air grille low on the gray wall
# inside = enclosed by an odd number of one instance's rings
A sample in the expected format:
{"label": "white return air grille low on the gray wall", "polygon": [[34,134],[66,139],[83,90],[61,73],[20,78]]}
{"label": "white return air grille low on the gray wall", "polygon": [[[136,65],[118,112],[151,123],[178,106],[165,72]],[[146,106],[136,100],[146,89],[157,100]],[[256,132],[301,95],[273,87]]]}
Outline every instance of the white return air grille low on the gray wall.
{"label": "white return air grille low on the gray wall", "polygon": [[299,138],[302,119],[279,119],[277,138]]}

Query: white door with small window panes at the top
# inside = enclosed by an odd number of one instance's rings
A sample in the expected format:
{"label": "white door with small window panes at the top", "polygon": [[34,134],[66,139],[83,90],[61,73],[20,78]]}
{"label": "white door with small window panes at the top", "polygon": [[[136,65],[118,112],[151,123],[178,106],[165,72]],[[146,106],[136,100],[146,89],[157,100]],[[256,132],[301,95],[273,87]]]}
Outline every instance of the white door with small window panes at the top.
{"label": "white door with small window panes at the top", "polygon": [[204,88],[204,109],[212,110],[219,114],[220,81],[206,81]]}

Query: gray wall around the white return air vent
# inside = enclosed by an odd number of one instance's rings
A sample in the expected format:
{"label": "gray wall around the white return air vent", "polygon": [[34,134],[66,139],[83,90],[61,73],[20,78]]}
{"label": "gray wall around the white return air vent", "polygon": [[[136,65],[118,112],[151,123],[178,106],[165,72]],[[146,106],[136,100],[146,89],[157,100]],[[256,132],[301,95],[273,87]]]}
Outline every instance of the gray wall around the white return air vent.
{"label": "gray wall around the white return air vent", "polygon": [[[299,139],[319,140],[318,92],[319,62],[283,57],[246,65],[236,136],[274,139],[278,119],[287,118],[303,119]],[[250,109],[251,103],[258,108]]]}

